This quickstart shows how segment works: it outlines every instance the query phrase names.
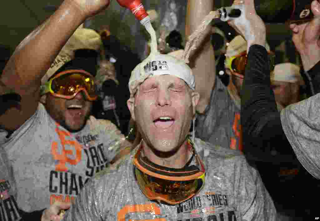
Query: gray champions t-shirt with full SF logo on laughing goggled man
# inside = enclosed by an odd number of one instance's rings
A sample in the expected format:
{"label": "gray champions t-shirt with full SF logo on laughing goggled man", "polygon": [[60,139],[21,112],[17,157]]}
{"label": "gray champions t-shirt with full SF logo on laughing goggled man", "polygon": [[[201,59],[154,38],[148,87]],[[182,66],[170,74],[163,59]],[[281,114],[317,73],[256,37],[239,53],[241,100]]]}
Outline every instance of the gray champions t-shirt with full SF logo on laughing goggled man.
{"label": "gray champions t-shirt with full SF logo on laughing goggled man", "polygon": [[122,140],[110,121],[92,116],[80,132],[70,133],[39,103],[32,117],[0,141],[13,166],[19,208],[28,212],[55,200],[73,201],[88,179],[113,159]]}

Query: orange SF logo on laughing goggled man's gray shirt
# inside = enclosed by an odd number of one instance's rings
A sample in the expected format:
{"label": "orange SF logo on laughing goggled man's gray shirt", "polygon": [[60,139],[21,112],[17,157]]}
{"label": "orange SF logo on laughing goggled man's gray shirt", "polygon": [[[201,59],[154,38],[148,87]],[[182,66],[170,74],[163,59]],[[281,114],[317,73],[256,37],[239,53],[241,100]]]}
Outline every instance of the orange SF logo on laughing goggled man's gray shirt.
{"label": "orange SF logo on laughing goggled man's gray shirt", "polygon": [[[55,160],[58,160],[59,163],[56,164],[56,171],[68,171],[66,163],[76,165],[81,161],[81,154],[82,154],[82,146],[76,140],[67,140],[66,137],[71,137],[70,132],[60,130],[59,124],[56,123],[56,132],[61,141],[61,153],[58,151],[58,143],[53,141],[51,145],[51,153]],[[66,145],[74,147],[74,149],[66,149]],[[75,151],[75,152],[74,152]],[[68,157],[68,155],[75,156],[74,159]]]}

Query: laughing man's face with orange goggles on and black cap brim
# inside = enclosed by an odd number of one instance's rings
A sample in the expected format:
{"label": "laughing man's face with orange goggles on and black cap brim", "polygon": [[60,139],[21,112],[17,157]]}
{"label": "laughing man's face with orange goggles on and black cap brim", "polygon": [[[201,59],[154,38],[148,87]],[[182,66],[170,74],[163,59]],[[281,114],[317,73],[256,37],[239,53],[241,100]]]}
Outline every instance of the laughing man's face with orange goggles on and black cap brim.
{"label": "laughing man's face with orange goggles on and black cap brim", "polygon": [[81,130],[98,96],[93,74],[95,65],[78,57],[62,65],[40,87],[41,102],[49,114],[69,131]]}

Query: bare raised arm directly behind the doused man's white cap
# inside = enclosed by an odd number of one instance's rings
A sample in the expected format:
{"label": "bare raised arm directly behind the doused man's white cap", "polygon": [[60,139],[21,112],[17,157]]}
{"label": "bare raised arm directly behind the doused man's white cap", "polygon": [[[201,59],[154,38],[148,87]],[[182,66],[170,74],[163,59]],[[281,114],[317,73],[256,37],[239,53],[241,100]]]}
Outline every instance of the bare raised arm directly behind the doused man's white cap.
{"label": "bare raised arm directly behind the doused man's white cap", "polygon": [[[186,39],[192,34],[204,17],[213,10],[213,0],[188,0],[186,16]],[[197,49],[190,56],[190,66],[196,78],[196,90],[200,94],[197,111],[203,113],[210,101],[216,76],[214,51],[210,42],[211,26],[204,31]]]}

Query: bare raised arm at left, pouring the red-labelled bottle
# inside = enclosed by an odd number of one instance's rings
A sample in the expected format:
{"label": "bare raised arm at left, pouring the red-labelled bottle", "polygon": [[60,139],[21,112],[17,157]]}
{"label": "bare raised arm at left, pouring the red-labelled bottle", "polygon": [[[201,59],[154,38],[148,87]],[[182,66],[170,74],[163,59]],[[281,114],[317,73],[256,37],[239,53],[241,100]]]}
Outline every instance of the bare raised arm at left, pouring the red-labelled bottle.
{"label": "bare raised arm at left, pouring the red-labelled bottle", "polygon": [[2,128],[15,130],[35,113],[41,78],[63,45],[86,18],[108,4],[109,0],[65,0],[47,21],[19,44],[1,74],[0,95],[17,93],[21,102],[0,116]]}

